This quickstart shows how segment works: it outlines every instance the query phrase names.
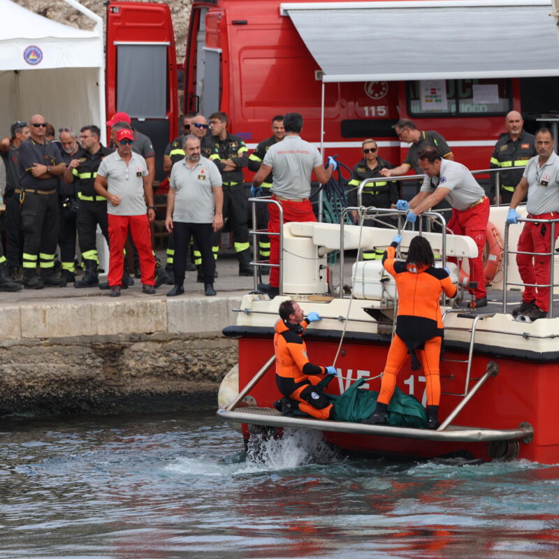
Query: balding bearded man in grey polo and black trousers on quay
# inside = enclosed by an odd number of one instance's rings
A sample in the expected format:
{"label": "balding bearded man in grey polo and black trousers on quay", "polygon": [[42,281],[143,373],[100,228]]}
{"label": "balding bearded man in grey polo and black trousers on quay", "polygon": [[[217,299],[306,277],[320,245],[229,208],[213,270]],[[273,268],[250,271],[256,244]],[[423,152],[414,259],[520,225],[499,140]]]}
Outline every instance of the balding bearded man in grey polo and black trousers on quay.
{"label": "balding bearded man in grey polo and black trousers on quay", "polygon": [[204,293],[213,296],[215,259],[212,232],[223,227],[222,174],[213,161],[201,157],[200,138],[192,134],[185,136],[183,149],[185,157],[173,165],[167,194],[165,225],[175,240],[175,286],[167,296],[184,293],[187,249],[192,236],[196,249],[202,255]]}

